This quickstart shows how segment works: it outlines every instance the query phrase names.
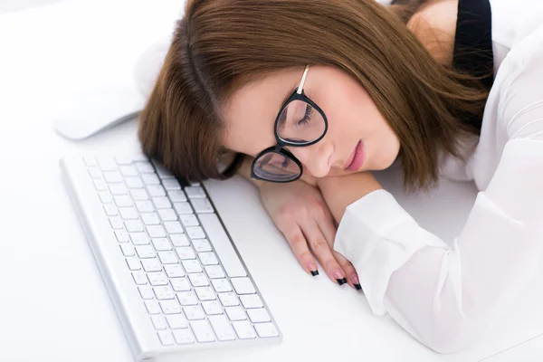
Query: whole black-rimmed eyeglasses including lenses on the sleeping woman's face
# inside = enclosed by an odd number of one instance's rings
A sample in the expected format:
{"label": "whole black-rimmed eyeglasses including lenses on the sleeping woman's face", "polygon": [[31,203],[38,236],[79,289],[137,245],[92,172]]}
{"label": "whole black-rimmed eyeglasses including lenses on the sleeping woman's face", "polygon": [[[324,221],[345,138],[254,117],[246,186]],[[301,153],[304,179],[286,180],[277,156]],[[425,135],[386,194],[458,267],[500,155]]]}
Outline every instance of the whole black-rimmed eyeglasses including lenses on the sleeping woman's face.
{"label": "whole black-rimmed eyeglasses including lenses on the sleeping woman's face", "polygon": [[303,92],[310,66],[303,71],[300,85],[284,102],[275,119],[277,145],[264,149],[252,161],[251,176],[271,182],[292,182],[300,178],[303,167],[285,146],[311,146],[326,135],[328,119],[319,106]]}

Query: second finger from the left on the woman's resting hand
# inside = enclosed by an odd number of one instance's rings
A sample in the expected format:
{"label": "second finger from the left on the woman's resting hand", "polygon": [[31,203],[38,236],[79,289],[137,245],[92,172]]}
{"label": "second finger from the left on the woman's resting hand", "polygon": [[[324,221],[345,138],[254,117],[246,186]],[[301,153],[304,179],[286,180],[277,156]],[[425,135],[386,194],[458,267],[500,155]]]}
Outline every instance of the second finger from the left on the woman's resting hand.
{"label": "second finger from the left on the woman's resting hand", "polygon": [[339,285],[347,282],[345,272],[334,257],[330,244],[320,231],[319,225],[314,220],[310,220],[302,224],[301,228],[310,244],[311,251],[317,257],[317,260],[319,260],[320,265],[322,265],[329,278]]}

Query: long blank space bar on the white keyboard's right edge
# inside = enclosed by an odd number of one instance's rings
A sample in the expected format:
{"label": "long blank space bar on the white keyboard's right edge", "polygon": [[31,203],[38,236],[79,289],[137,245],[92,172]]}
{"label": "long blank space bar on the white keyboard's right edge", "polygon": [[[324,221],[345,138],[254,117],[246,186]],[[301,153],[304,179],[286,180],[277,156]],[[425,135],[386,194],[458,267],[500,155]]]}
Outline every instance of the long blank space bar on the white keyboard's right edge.
{"label": "long blank space bar on the white keyboard's right edge", "polygon": [[202,226],[204,226],[205,233],[207,233],[214,251],[223,264],[226,274],[231,278],[247,276],[247,272],[243,268],[237,253],[233,250],[233,245],[224,232],[223,224],[221,224],[217,215],[198,214],[198,218]]}

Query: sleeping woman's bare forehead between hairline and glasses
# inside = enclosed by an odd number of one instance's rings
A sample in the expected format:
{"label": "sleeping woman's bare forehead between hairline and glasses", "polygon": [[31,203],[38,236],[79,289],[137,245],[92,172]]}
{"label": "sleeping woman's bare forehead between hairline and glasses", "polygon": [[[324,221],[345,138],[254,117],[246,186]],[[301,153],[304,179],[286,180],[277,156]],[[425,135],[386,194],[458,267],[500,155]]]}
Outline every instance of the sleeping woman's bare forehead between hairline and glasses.
{"label": "sleeping woman's bare forehead between hairline and glasses", "polygon": [[275,144],[273,124],[303,69],[273,71],[235,91],[224,109],[223,145],[256,156]]}

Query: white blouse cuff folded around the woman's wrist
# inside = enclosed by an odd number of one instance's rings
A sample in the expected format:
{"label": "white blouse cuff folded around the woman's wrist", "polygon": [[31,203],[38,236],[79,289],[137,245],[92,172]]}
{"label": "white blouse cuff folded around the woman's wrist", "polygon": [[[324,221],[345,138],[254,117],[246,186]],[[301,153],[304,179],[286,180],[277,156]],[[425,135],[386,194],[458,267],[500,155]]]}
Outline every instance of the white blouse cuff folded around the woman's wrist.
{"label": "white blouse cuff folded around the woman's wrist", "polygon": [[376,190],[348,205],[334,250],[353,263],[370,308],[376,315],[383,315],[392,273],[424,246],[450,249],[421,228],[393,195]]}

